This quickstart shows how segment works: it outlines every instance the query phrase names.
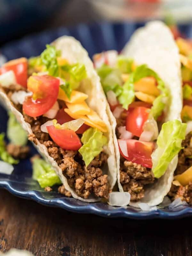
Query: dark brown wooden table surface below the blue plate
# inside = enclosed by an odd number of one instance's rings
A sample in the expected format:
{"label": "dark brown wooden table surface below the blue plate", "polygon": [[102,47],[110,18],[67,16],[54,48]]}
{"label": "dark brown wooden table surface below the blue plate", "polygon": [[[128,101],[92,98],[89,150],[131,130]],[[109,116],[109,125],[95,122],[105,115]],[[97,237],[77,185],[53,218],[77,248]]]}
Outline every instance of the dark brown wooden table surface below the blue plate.
{"label": "dark brown wooden table surface below the blue plate", "polygon": [[0,189],[0,252],[36,256],[192,255],[191,219],[107,219],[49,208]]}

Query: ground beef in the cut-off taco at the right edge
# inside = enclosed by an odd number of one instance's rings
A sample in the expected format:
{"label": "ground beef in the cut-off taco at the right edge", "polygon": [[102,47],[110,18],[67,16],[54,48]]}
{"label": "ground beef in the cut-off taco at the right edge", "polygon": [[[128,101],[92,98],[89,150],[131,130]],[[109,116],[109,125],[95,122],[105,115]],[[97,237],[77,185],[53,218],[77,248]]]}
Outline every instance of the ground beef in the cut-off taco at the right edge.
{"label": "ground beef in the cut-off taco at the right edge", "polygon": [[[183,149],[180,150],[178,155],[178,164],[174,172],[174,175],[185,172],[190,166],[192,166],[192,159],[188,158],[192,156],[192,147],[190,147],[190,140],[192,134],[189,133],[185,140],[182,141]],[[171,200],[181,198],[182,201],[186,201],[188,204],[192,204],[192,182],[189,182],[186,186],[176,186],[172,184],[172,187],[168,193]]]}

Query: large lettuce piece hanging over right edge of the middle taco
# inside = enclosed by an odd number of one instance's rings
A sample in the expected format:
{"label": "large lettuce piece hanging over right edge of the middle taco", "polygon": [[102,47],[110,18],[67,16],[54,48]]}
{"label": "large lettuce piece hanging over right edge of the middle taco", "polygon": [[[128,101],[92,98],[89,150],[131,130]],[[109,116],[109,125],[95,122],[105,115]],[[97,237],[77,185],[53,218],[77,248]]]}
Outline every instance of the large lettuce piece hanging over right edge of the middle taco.
{"label": "large lettuce piece hanging over right edge of the middle taco", "polygon": [[172,120],[162,125],[157,139],[158,147],[151,155],[155,178],[160,178],[165,173],[169,163],[182,149],[181,142],[185,139],[186,127],[187,124],[179,120]]}

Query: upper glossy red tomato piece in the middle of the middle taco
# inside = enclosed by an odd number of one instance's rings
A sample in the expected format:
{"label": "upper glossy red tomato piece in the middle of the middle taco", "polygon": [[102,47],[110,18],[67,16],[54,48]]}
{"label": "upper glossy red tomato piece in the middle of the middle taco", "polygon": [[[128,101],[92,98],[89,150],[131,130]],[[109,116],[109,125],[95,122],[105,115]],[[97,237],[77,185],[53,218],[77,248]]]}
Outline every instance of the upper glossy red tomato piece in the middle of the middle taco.
{"label": "upper glossy red tomato piece in the middle of the middle taco", "polygon": [[143,125],[149,116],[149,108],[136,107],[129,108],[126,118],[126,130],[140,137],[143,132]]}

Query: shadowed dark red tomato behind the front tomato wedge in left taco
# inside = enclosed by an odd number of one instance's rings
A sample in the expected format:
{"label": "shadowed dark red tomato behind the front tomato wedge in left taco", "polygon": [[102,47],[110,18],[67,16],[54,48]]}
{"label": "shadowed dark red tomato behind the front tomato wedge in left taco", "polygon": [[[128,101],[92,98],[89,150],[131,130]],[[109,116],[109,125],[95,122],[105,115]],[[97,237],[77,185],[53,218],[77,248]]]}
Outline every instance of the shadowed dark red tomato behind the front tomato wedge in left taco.
{"label": "shadowed dark red tomato behind the front tomato wedge in left taco", "polygon": [[[66,107],[64,107],[66,108]],[[61,108],[58,112],[57,115],[55,116],[54,119],[57,120],[58,124],[64,124],[69,121],[75,120],[72,117],[70,117],[65,111],[64,108]],[[87,124],[82,124],[81,127],[76,131],[77,134],[83,134],[90,126]]]}

